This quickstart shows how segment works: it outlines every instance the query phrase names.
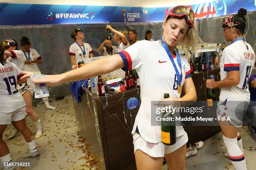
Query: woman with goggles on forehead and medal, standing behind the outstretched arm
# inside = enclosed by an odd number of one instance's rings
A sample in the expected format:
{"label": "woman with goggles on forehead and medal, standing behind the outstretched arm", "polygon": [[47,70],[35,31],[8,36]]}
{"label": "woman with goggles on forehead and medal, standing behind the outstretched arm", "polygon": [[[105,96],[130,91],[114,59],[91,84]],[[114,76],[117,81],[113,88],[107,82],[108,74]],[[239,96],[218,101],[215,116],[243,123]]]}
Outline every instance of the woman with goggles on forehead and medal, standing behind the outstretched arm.
{"label": "woman with goggles on forehead and medal, standing behind the outstretched arm", "polygon": [[84,63],[86,58],[93,57],[92,47],[88,43],[83,42],[84,33],[81,29],[76,28],[71,32],[70,37],[75,40],[69,47],[69,55],[72,65],[77,65],[77,62],[81,60],[80,55],[82,55]]}

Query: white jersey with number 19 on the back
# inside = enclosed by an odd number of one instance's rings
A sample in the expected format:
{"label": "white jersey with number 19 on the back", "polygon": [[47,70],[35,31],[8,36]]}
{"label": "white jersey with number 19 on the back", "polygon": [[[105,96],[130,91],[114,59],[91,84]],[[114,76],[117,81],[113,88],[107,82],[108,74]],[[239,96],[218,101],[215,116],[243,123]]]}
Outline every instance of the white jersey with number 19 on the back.
{"label": "white jersey with number 19 on the back", "polygon": [[20,69],[11,62],[0,62],[0,112],[9,113],[24,107],[25,101],[17,90]]}

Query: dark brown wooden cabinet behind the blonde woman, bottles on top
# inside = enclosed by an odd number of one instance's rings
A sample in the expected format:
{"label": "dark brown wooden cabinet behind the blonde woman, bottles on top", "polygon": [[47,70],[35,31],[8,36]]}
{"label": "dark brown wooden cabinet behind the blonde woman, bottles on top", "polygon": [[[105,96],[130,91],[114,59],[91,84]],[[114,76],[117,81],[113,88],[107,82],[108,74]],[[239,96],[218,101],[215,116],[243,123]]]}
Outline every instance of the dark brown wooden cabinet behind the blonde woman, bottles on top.
{"label": "dark brown wooden cabinet behind the blonde woman, bottles on top", "polygon": [[[205,81],[210,75],[215,75],[215,80],[219,80],[219,71],[215,69],[192,74],[197,100],[206,100]],[[218,98],[220,91],[216,89],[215,92]],[[139,106],[135,110],[127,109],[126,103],[131,97],[140,101],[139,89],[108,95],[107,98],[83,90],[81,102],[74,102],[79,131],[90,149],[97,170],[136,169],[131,130]],[[215,126],[184,126],[184,129],[189,143],[206,140],[219,132]]]}

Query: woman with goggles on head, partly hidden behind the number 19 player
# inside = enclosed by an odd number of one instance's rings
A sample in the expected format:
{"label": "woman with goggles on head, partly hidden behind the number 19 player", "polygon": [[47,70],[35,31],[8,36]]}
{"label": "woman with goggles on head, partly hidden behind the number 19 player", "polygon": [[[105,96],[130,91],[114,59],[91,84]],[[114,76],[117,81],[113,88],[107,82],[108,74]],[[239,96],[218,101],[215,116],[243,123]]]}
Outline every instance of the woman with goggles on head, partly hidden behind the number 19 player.
{"label": "woman with goggles on head, partly hidden behind the number 19 player", "polygon": [[[5,40],[4,42],[8,43],[8,49],[5,51],[8,60],[10,59],[18,68],[23,71],[24,70],[24,57],[22,52],[18,50],[18,43],[16,40]],[[13,43],[14,42],[14,43]],[[19,86],[18,86],[19,87]],[[31,117],[35,126],[36,126],[36,139],[42,136],[42,127],[41,121],[38,114],[33,110],[32,106],[32,94],[33,87],[28,84],[23,84],[21,88],[19,88],[19,92],[22,94],[25,102],[26,102],[26,113]],[[14,129],[12,133],[8,136],[9,139],[13,138],[13,136],[17,133],[17,130]]]}

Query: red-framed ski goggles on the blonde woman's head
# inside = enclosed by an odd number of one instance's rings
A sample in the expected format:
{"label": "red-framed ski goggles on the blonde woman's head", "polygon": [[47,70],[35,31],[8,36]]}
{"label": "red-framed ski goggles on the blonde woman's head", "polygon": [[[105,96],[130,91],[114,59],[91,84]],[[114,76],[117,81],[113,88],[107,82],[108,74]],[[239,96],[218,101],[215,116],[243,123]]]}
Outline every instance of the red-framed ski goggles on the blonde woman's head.
{"label": "red-framed ski goggles on the blonde woman's head", "polygon": [[168,17],[172,17],[176,19],[185,18],[187,25],[189,25],[189,28],[192,28],[194,26],[195,14],[194,14],[194,11],[188,6],[179,5],[172,8],[167,18]]}

